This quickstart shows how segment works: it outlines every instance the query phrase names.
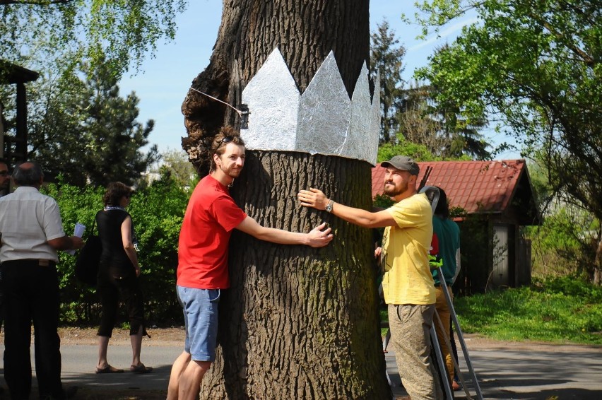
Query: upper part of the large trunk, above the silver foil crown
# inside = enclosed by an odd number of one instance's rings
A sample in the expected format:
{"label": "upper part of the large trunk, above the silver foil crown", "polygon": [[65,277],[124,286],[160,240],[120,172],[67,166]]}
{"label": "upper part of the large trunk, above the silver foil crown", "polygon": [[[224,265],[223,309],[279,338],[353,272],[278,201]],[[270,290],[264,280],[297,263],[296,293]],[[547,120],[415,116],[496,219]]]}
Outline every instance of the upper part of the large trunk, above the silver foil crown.
{"label": "upper part of the large trunk, above the silver foil crown", "polygon": [[[278,47],[301,93],[329,52],[334,52],[348,93],[363,63],[370,63],[369,0],[225,0],[218,40],[193,88],[240,109],[242,88]],[[237,114],[189,90],[182,104],[188,137],[182,147],[201,175],[209,168],[207,148]]]}

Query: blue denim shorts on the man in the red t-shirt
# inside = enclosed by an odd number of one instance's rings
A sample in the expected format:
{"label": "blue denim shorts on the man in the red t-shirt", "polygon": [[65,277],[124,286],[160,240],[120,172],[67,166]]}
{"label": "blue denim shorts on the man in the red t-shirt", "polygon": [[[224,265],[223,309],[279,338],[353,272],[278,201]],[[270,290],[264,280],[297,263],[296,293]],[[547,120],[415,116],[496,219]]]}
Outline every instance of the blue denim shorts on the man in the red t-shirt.
{"label": "blue denim shorts on the man in the red t-shirt", "polygon": [[220,290],[177,286],[177,298],[184,309],[184,351],[190,353],[194,361],[213,363],[216,360]]}

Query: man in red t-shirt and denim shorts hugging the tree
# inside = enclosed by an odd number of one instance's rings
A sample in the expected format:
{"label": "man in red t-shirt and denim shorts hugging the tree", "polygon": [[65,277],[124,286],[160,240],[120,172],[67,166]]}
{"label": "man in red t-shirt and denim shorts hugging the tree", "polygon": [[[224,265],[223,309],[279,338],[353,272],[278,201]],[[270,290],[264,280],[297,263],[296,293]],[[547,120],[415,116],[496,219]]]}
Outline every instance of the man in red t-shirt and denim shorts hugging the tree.
{"label": "man in red t-shirt and denim shorts hugging the tree", "polygon": [[233,229],[281,245],[323,247],[332,240],[321,224],[309,233],[265,228],[228,192],[244,166],[240,134],[224,127],[213,139],[211,172],[194,188],[179,234],[177,295],[184,309],[186,343],[172,366],[168,400],[199,398],[201,381],[216,358],[220,290],[230,287],[228,242]]}

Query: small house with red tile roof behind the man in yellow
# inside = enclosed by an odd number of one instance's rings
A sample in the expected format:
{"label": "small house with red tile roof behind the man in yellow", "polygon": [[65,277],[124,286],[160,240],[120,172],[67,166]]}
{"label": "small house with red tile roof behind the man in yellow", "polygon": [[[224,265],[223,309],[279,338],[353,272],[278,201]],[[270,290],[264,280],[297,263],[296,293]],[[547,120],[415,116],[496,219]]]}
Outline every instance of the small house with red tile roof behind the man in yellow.
{"label": "small house with red tile roof behind the man in yellow", "polygon": [[[432,161],[418,163],[421,182],[445,190],[461,229],[464,293],[531,283],[531,242],[521,227],[540,225],[541,216],[525,160]],[[385,169],[372,168],[372,197],[382,194]]]}

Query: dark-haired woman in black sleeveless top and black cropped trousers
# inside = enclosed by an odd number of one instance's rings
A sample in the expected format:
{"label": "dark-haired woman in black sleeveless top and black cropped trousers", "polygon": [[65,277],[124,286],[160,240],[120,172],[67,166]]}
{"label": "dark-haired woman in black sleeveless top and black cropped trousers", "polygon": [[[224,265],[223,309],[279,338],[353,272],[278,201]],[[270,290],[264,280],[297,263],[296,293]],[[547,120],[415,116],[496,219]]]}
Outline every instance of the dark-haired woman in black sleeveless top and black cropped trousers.
{"label": "dark-haired woman in black sleeveless top and black cropped trousers", "polygon": [[96,373],[116,373],[124,370],[112,367],[107,361],[107,347],[112,336],[119,299],[127,307],[131,340],[131,372],[146,373],[153,368],[140,361],[142,336],[146,334],[144,305],[138,276],[140,264],[134,246],[134,227],[125,211],[132,190],[122,182],[111,182],[103,201],[105,208],[96,214],[102,254],[98,269],[98,293],[102,312],[98,328],[98,364]]}

